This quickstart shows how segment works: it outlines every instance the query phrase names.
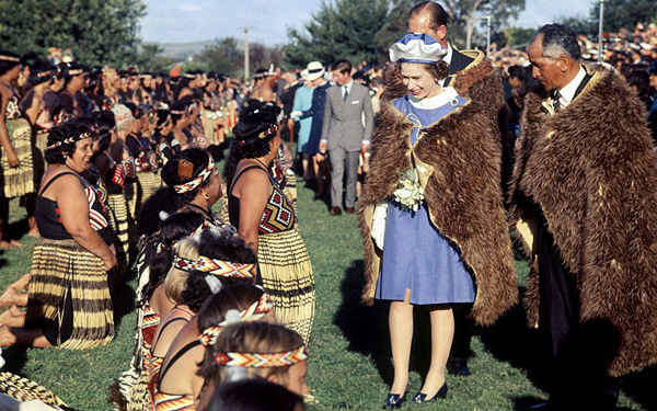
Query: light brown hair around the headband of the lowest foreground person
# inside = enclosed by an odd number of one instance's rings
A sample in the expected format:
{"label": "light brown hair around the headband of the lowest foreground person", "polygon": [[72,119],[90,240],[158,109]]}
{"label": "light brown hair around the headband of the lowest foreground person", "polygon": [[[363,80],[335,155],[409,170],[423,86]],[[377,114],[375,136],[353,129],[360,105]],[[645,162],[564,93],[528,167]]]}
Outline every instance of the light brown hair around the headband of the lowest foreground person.
{"label": "light brown hair around the headband of the lowest foreground person", "polygon": [[[228,326],[217,338],[215,346],[208,347],[217,353],[280,353],[296,350],[303,345],[303,338],[297,332],[285,328],[281,324],[268,322],[238,322]],[[227,380],[228,368],[214,363],[214,356],[206,355],[203,369],[211,369],[205,375],[204,386],[216,387]],[[207,362],[212,362],[208,366]],[[274,375],[278,378],[278,384],[287,386],[289,384],[288,372],[290,366],[268,367],[268,368],[244,368],[247,378],[269,378]]]}

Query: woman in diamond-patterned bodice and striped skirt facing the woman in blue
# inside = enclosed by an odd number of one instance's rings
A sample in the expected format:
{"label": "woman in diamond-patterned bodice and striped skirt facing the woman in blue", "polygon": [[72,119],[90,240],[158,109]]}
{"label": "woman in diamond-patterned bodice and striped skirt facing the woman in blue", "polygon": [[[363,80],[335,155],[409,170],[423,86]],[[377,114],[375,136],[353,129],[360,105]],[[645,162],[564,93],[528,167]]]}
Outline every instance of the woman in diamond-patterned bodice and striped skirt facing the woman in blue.
{"label": "woman in diamond-patterned bodice and striped skirt facing the woman in blue", "polygon": [[257,254],[260,281],[274,298],[278,322],[308,343],[314,317],[314,277],[297,216],[269,173],[280,147],[280,107],[255,105],[234,128],[226,165],[230,222]]}

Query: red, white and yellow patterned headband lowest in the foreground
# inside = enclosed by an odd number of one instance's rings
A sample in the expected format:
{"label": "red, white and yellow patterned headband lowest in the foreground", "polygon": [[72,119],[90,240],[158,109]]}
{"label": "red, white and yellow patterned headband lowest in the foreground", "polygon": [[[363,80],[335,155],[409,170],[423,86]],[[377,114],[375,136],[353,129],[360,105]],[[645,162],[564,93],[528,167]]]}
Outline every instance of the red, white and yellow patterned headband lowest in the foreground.
{"label": "red, white and yellow patterned headband lowest in the foreground", "polygon": [[217,353],[215,363],[224,367],[280,368],[308,359],[308,347],[279,353]]}

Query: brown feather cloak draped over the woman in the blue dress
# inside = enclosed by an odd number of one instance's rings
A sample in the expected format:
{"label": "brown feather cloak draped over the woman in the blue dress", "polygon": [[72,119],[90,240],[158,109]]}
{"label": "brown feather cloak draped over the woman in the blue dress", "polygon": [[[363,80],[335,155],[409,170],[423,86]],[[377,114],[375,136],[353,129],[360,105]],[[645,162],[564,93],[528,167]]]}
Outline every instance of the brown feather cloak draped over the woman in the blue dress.
{"label": "brown feather cloak draped over the woman in the blue dress", "polygon": [[[464,85],[458,91],[483,91],[486,81],[499,82],[499,75],[481,56],[479,62],[482,64],[469,66],[474,68],[471,81],[462,81]],[[392,196],[400,173],[412,165],[412,156],[425,187],[431,222],[459,247],[474,275],[474,320],[492,324],[517,302],[514,256],[499,184],[496,107],[504,96],[502,88],[488,91],[423,129],[414,147],[410,140],[413,123],[389,101],[381,104],[372,136],[370,171],[358,207],[366,261],[366,304],[373,302],[381,258],[371,239],[373,208],[379,201]]]}

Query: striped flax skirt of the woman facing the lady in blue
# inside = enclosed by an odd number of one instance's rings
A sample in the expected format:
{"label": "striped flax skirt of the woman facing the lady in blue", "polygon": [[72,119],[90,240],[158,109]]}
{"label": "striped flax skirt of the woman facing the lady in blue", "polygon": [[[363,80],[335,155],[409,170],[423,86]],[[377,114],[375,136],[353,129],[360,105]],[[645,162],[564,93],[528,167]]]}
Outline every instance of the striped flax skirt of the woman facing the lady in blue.
{"label": "striped flax skirt of the woman facing the lady in blue", "polygon": [[314,277],[297,229],[260,235],[257,262],[263,287],[272,296],[276,321],[297,331],[306,343],[314,318]]}

